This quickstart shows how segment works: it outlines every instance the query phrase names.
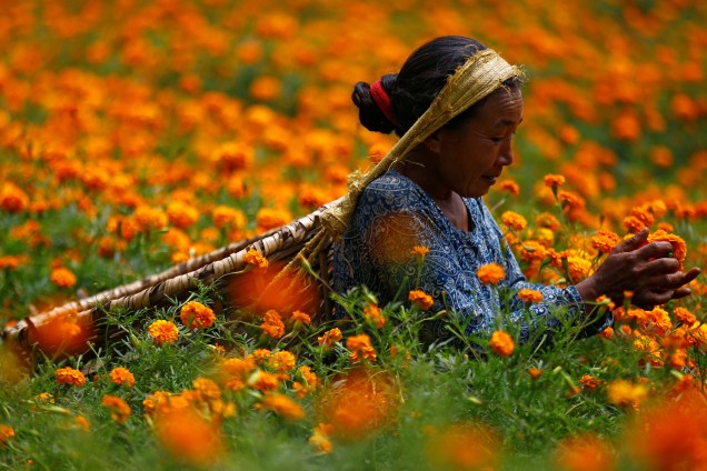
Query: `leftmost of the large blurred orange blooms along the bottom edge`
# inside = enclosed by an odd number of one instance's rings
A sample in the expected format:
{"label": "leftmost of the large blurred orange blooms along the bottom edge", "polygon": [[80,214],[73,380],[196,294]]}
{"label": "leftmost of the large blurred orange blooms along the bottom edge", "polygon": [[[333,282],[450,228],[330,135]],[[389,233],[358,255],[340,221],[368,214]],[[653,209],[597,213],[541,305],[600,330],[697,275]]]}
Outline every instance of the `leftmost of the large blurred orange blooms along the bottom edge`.
{"label": "leftmost of the large blurred orange blooms along the bottom edge", "polygon": [[157,414],[155,433],[165,450],[197,468],[219,460],[225,450],[218,422],[205,419],[192,408]]}

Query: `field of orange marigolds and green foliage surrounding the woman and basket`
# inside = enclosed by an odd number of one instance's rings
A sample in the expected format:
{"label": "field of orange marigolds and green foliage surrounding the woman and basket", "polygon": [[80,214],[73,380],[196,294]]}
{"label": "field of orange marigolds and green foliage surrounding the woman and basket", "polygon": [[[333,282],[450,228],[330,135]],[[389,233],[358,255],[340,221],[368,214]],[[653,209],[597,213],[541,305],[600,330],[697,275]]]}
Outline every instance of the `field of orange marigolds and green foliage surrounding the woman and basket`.
{"label": "field of orange marigolds and green foliage surrounding the woman and basket", "polygon": [[[395,142],[358,123],[354,83],[442,34],[528,76],[514,166],[486,200],[529,280],[576,283],[645,228],[686,270],[706,264],[705,2],[4,3],[4,329],[343,196]],[[255,287],[278,269],[246,263]],[[512,324],[460,334],[421,290],[389,305],[352,290],[343,321],[203,284],[100,325],[68,313],[32,350],[0,343],[0,465],[707,469],[705,275],[690,289],[650,310],[598,299],[615,318],[600,334],[525,342]],[[449,338],[420,342],[429,322]]]}

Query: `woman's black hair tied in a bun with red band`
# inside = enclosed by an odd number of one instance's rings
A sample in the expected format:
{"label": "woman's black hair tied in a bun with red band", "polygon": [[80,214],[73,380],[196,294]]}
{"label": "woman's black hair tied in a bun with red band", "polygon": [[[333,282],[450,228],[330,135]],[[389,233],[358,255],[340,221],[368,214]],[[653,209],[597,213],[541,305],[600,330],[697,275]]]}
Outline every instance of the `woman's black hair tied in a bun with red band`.
{"label": "woman's black hair tied in a bun with red band", "polygon": [[[381,86],[390,98],[390,108],[395,122],[391,122],[371,96],[370,84],[358,82],[354,87],[351,100],[359,109],[359,121],[369,131],[398,136],[405,134],[427,111],[437,94],[447,83],[447,79],[476,52],[487,49],[474,39],[461,36],[445,36],[434,39],[418,48],[402,64],[398,73],[389,73],[380,79]],[[504,82],[508,87],[518,87],[520,80],[511,78]],[[468,118],[484,100],[471,106],[446,126],[455,126]]]}

